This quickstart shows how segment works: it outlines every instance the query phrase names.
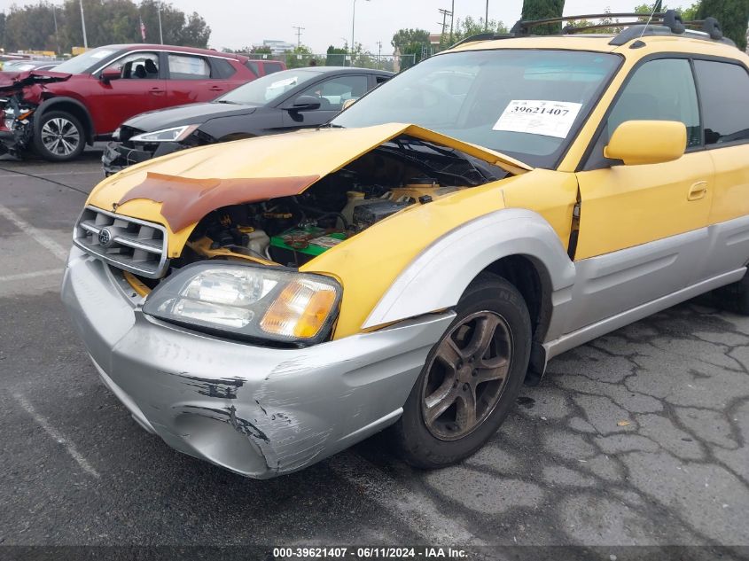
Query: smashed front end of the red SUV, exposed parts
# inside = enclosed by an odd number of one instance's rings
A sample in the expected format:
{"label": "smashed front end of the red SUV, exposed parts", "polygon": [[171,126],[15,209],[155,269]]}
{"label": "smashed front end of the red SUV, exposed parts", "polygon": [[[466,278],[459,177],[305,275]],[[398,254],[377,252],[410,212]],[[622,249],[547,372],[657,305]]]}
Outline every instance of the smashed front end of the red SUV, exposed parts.
{"label": "smashed front end of the red SUV, exposed parts", "polygon": [[0,154],[20,158],[34,133],[34,113],[44,100],[45,85],[64,82],[70,74],[0,73]]}

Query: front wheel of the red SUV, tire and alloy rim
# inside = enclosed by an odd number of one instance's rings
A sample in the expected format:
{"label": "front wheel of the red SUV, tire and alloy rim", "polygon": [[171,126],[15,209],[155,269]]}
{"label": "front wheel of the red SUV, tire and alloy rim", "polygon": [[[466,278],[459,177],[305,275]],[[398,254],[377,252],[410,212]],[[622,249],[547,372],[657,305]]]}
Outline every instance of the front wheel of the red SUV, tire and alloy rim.
{"label": "front wheel of the red SUV, tire and alloy rim", "polygon": [[34,149],[44,160],[70,161],[86,147],[81,121],[64,111],[49,111],[35,123]]}

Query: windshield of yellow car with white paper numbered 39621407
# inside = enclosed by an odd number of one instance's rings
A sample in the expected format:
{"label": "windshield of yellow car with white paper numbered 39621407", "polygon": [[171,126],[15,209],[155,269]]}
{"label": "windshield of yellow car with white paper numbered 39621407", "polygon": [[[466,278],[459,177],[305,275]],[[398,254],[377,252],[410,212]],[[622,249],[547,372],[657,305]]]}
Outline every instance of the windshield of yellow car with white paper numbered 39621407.
{"label": "windshield of yellow car with white paper numbered 39621407", "polygon": [[619,61],[578,51],[438,55],[382,84],[332,125],[413,123],[552,168]]}

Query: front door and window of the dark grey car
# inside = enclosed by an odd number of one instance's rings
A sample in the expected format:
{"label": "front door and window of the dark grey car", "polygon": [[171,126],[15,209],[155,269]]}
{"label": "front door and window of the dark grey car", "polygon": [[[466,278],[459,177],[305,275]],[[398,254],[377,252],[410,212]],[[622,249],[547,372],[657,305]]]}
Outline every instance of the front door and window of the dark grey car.
{"label": "front door and window of the dark grey car", "polygon": [[282,106],[293,105],[294,99],[301,96],[316,97],[320,101],[318,109],[308,111],[286,110],[283,115],[285,129],[304,129],[319,127],[330,121],[343,108],[347,99],[358,99],[368,90],[366,74],[344,74],[327,78],[308,87],[282,102]]}

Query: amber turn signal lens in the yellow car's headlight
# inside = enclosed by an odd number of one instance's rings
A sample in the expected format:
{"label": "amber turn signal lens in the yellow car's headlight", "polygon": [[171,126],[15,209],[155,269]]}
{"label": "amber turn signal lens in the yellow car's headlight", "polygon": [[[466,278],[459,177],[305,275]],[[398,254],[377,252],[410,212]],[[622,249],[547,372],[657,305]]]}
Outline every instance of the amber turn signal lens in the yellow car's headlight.
{"label": "amber turn signal lens in the yellow car's headlight", "polygon": [[332,286],[311,280],[287,284],[262,317],[262,331],[311,339],[323,328],[336,301]]}

